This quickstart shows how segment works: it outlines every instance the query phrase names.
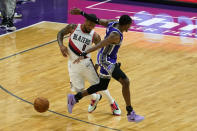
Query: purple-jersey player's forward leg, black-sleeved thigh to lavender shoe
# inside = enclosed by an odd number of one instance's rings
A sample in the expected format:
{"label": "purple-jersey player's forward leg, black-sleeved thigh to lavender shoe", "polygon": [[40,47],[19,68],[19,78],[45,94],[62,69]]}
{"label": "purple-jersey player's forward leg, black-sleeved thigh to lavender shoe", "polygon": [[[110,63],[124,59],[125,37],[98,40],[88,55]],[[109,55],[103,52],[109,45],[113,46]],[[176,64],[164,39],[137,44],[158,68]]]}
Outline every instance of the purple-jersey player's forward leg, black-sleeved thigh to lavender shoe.
{"label": "purple-jersey player's forward leg, black-sleeved thigh to lavender shoe", "polygon": [[143,116],[135,114],[130,100],[130,81],[126,74],[116,64],[112,72],[112,77],[122,84],[122,94],[126,103],[127,118],[129,122],[140,122],[144,120]]}

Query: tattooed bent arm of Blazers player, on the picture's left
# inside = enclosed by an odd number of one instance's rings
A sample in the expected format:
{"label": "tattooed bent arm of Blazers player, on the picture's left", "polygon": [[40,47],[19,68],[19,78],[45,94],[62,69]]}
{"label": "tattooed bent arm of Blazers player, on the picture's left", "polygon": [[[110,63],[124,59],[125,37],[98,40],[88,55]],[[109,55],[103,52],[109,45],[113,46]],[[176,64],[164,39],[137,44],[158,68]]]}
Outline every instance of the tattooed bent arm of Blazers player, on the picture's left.
{"label": "tattooed bent arm of Blazers player, on the picture's left", "polygon": [[63,39],[64,39],[64,36],[65,35],[68,35],[70,33],[73,32],[73,30],[76,28],[77,25],[75,24],[69,24],[67,25],[65,28],[61,29],[58,34],[57,34],[57,41],[58,41],[58,44],[59,44],[59,47],[60,47],[60,50],[62,52],[62,55],[64,57],[67,57],[68,55],[68,50],[67,50],[67,47],[64,46],[63,44]]}

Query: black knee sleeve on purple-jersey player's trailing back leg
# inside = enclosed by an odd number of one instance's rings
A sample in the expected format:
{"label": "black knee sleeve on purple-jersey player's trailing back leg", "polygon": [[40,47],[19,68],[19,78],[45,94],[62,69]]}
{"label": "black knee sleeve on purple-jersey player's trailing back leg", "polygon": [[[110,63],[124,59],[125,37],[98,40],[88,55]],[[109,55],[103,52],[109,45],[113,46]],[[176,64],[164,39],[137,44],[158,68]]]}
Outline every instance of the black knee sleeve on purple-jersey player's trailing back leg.
{"label": "black knee sleeve on purple-jersey player's trailing back leg", "polygon": [[92,85],[87,89],[88,94],[93,94],[98,91],[106,90],[109,85],[110,79],[100,78],[100,82],[96,85]]}

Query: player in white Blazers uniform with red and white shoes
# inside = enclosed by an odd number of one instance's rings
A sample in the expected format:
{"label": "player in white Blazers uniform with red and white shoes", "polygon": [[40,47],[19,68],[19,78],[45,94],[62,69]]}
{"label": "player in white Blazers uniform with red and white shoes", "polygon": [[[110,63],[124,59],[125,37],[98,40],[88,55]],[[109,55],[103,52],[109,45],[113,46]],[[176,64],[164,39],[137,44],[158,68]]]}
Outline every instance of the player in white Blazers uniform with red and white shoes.
{"label": "player in white Blazers uniform with red and white shoes", "polygon": [[[93,17],[96,17],[92,14]],[[57,35],[58,44],[62,55],[68,57],[68,72],[70,76],[70,83],[72,91],[81,92],[84,90],[85,80],[91,85],[99,83],[98,74],[94,68],[90,54],[87,55],[87,59],[82,60],[79,64],[73,64],[79,55],[91,48],[92,43],[99,43],[101,41],[100,36],[93,30],[95,23],[90,20],[85,20],[84,24],[69,24]],[[63,37],[70,34],[68,47],[63,45]],[[102,91],[107,97],[112,113],[114,115],[120,115],[121,110],[115,100],[111,97],[108,90]],[[88,112],[93,112],[96,109],[97,103],[101,100],[101,94],[92,94],[91,104],[88,107]]]}

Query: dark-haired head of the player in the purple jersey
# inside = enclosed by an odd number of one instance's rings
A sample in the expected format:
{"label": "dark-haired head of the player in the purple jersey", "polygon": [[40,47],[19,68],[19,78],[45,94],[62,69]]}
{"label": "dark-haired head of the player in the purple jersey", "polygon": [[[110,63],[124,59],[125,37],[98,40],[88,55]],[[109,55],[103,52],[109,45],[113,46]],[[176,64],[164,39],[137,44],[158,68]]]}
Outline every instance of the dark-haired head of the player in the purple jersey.
{"label": "dark-haired head of the player in the purple jersey", "polygon": [[119,25],[123,28],[124,31],[128,31],[132,24],[132,19],[128,15],[122,15],[119,19]]}

